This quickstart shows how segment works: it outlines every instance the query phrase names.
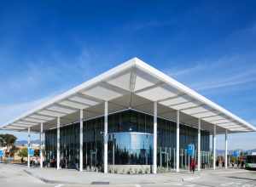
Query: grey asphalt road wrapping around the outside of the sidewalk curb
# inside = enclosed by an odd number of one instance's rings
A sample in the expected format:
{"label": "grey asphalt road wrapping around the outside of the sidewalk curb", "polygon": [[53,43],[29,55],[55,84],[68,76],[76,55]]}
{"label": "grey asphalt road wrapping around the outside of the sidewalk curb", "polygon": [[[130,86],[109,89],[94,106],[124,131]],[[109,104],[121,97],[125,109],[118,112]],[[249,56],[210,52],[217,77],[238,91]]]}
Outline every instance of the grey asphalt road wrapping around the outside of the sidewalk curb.
{"label": "grey asphalt road wrapping around the outside of the sidewalk curb", "polygon": [[[11,164],[0,164],[0,186],[1,187],[30,187],[30,186],[38,186],[38,187],[86,187],[86,186],[94,186],[94,187],[106,187],[106,186],[133,186],[133,187],[166,187],[166,186],[186,186],[186,187],[194,187],[194,186],[230,186],[230,187],[256,187],[256,171],[247,172],[240,169],[230,169],[226,170],[218,170],[218,171],[204,171],[200,174],[197,174],[196,178],[187,178],[177,181],[168,181],[165,183],[157,183],[157,184],[67,184],[67,183],[58,183],[51,184],[49,182],[45,182],[42,178],[35,178],[31,174],[25,172],[26,167],[15,166]],[[58,172],[58,171],[55,171]],[[75,171],[74,171],[75,172]],[[175,173],[170,173],[175,175]],[[84,173],[86,177],[86,173]],[[63,176],[65,177],[65,176]],[[131,176],[132,177],[132,176]]]}

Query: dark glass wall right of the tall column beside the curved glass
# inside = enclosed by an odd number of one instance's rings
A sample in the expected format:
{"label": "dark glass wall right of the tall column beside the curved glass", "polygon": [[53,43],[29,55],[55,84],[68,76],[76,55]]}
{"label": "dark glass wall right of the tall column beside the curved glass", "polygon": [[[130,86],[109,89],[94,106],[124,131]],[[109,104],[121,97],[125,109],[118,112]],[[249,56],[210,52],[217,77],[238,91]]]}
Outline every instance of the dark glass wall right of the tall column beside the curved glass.
{"label": "dark glass wall right of the tall column beside the curved glass", "polygon": [[[170,171],[176,168],[176,122],[158,119],[158,155],[157,165],[159,172]],[[187,154],[188,144],[195,144],[195,154],[197,153],[197,133],[198,129],[180,124],[179,135],[179,167],[189,169],[189,158]],[[204,156],[209,151],[209,133],[201,131],[201,151]],[[196,156],[195,156],[196,158]],[[202,159],[201,159],[202,161]],[[205,165],[208,160],[204,157]]]}

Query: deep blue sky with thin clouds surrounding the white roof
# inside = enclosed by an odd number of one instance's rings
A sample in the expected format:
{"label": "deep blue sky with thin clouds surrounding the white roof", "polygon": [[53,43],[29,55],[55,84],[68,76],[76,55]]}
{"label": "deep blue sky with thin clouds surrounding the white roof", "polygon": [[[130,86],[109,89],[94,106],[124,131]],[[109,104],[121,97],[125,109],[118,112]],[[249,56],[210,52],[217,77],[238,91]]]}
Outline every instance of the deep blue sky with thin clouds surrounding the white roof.
{"label": "deep blue sky with thin clouds surrounding the white roof", "polygon": [[2,2],[0,124],[135,56],[256,124],[254,1],[93,2]]}

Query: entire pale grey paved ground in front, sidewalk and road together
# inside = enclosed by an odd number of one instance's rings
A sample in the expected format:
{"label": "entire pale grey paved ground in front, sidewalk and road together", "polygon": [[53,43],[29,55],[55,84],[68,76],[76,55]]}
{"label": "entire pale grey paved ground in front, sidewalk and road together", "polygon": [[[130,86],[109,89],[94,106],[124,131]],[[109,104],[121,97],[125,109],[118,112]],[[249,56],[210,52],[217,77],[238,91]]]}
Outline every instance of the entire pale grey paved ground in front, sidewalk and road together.
{"label": "entire pale grey paved ground in front, sidewalk and road together", "polygon": [[104,174],[55,170],[53,168],[27,168],[14,164],[0,164],[0,186],[256,186],[256,172],[241,169],[205,170],[201,173],[159,174]]}

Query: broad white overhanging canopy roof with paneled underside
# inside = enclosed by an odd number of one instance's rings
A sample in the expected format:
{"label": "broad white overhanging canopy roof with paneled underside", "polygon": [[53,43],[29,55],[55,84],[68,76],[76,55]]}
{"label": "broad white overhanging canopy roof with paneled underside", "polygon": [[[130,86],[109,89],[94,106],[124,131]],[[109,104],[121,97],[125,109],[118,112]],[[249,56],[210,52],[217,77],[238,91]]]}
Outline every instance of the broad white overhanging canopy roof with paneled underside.
{"label": "broad white overhanging canopy roof with paneled underside", "polygon": [[134,109],[153,114],[153,103],[158,102],[158,116],[176,121],[176,111],[181,113],[180,121],[217,133],[256,131],[256,127],[230,113],[194,90],[177,82],[141,59],[130,59],[125,63],[97,76],[66,93],[38,105],[15,120],[3,125],[2,129],[39,132],[40,123],[44,130],[56,127],[56,118],[61,116],[61,125],[79,121],[79,109],[84,109],[84,118],[102,116],[104,101],[108,101],[108,112]]}

